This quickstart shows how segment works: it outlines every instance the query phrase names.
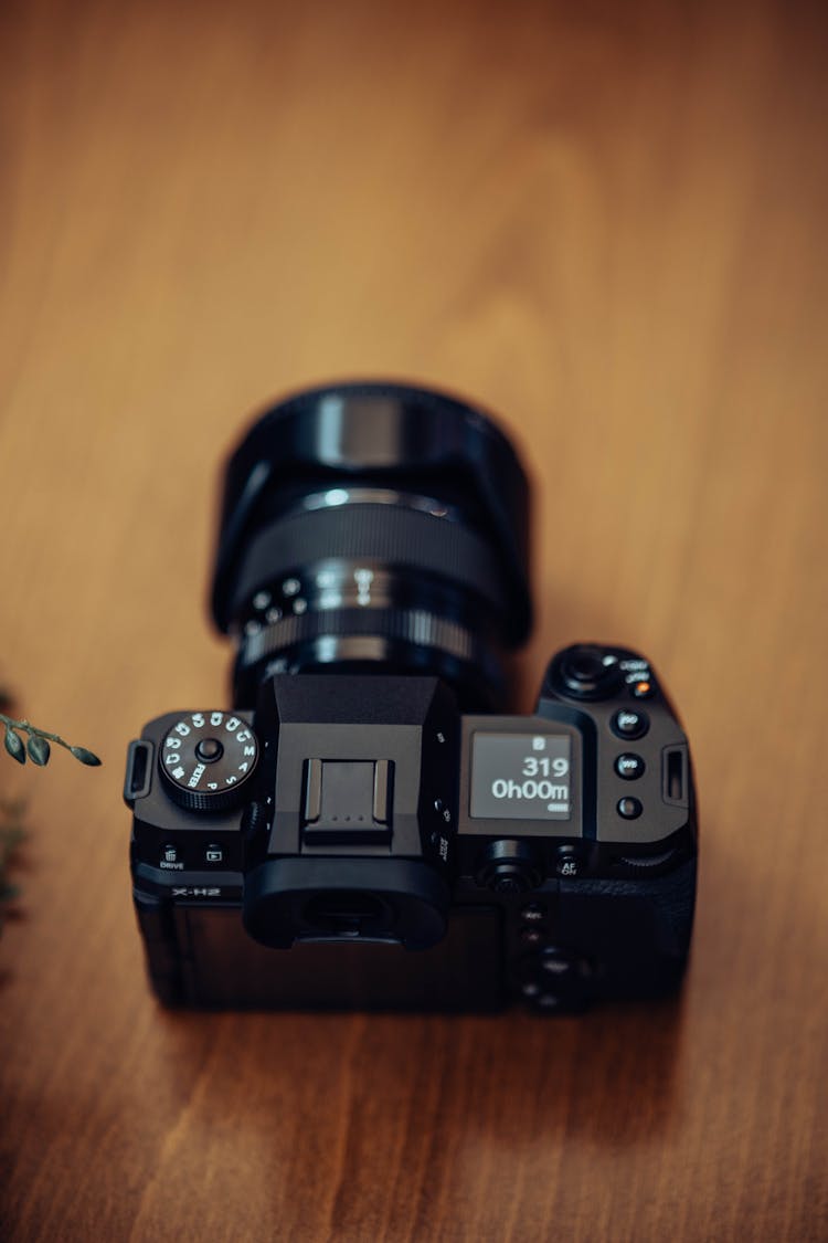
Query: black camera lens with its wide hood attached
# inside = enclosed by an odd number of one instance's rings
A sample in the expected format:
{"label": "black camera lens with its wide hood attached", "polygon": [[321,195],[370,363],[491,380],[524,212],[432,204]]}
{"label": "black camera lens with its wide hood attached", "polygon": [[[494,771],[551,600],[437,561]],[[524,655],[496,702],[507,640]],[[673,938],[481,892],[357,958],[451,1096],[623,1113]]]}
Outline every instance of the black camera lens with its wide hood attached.
{"label": "black camera lens with its wide hood attached", "polygon": [[464,711],[506,705],[530,629],[528,485],[495,424],[396,384],[267,410],[225,481],[212,610],[235,702],[278,672],[433,674]]}

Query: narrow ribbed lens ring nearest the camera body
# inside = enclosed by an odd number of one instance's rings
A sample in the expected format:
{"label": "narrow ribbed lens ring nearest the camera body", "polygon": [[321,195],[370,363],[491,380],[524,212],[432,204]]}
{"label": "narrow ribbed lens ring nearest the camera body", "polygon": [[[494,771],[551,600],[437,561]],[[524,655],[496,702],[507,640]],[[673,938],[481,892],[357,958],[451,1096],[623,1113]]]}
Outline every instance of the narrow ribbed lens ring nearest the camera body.
{"label": "narrow ribbed lens ring nearest the camera body", "polygon": [[423,609],[325,609],[282,618],[254,634],[245,635],[238,665],[247,669],[259,660],[323,636],[379,635],[438,648],[457,660],[480,661],[484,650],[474,635],[457,622]]}

